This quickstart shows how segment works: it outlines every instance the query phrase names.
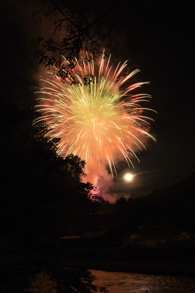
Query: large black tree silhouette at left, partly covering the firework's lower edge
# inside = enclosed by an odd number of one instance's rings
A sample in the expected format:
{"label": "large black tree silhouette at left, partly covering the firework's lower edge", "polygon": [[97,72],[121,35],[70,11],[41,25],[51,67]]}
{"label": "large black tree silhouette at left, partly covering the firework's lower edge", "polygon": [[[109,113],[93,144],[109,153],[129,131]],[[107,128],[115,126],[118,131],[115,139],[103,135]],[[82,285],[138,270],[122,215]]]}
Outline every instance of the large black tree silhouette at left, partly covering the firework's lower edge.
{"label": "large black tree silhouette at left, partly covering the firework's lower edge", "polygon": [[85,162],[56,155],[59,139],[49,140],[31,128],[34,110],[1,105],[1,219],[3,235],[56,238],[93,229],[90,221],[102,199],[92,201],[91,183],[80,182]]}

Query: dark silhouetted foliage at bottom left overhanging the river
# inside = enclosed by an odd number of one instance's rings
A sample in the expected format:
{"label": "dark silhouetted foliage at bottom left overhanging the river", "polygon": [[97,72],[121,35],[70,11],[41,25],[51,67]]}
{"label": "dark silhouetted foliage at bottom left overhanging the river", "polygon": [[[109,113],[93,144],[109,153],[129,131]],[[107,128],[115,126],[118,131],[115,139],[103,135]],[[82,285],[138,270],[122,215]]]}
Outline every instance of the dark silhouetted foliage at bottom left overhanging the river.
{"label": "dark silhouetted foliage at bottom left overhanging the river", "polygon": [[96,278],[88,270],[63,268],[34,259],[14,264],[1,263],[0,276],[0,289],[4,293],[29,292],[38,279],[39,282],[45,281],[45,287],[55,289],[56,293],[108,292],[105,287],[93,284]]}

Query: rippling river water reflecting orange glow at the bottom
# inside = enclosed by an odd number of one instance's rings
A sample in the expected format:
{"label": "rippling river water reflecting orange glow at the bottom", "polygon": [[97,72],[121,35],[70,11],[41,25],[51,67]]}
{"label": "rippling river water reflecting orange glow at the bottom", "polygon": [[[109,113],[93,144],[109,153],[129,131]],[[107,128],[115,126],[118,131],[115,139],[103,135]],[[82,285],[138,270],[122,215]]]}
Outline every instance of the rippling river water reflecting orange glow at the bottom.
{"label": "rippling river water reflecting orange glow at the bottom", "polygon": [[[195,280],[186,276],[146,275],[90,270],[98,280],[96,285],[107,287],[109,293],[195,293]],[[29,290],[33,293],[55,293],[51,281],[39,274]]]}

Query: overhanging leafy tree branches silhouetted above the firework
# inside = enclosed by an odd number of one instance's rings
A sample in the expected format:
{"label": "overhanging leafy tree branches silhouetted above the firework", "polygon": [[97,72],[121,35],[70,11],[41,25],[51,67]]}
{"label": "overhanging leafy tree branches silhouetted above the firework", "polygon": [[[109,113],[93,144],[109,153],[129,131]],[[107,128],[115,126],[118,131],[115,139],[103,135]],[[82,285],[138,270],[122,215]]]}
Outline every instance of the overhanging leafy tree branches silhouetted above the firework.
{"label": "overhanging leafy tree branches silhouetted above the firework", "polygon": [[[37,35],[33,39],[34,57],[39,64],[59,76],[61,81],[65,82],[66,78],[72,76],[71,82],[75,83],[73,70],[76,63],[82,66],[82,61],[90,61],[92,55],[93,58],[102,55],[103,48],[113,52],[122,47],[128,52],[125,58],[129,58],[132,49],[140,46],[137,15],[143,23],[144,20],[148,22],[147,13],[152,8],[152,1],[143,0],[122,0],[120,4],[112,0],[96,3],[78,0],[39,1],[32,17],[37,23],[47,24],[51,37]],[[86,75],[85,78],[88,77]]]}

